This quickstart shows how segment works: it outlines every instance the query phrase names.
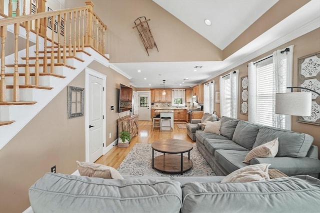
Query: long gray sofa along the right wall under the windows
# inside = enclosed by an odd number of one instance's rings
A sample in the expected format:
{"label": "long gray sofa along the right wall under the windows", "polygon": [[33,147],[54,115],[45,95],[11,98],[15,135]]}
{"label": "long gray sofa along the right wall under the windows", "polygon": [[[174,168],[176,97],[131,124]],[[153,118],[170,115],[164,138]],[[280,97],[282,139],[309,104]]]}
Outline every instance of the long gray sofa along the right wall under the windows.
{"label": "long gray sofa along the right wall under the windows", "polygon": [[274,158],[253,158],[250,164],[269,163],[269,169],[278,169],[288,176],[318,177],[320,160],[312,136],[228,117],[220,121],[221,135],[195,131],[196,146],[217,175],[228,175],[247,166],[242,161],[252,148],[278,137],[279,148]]}

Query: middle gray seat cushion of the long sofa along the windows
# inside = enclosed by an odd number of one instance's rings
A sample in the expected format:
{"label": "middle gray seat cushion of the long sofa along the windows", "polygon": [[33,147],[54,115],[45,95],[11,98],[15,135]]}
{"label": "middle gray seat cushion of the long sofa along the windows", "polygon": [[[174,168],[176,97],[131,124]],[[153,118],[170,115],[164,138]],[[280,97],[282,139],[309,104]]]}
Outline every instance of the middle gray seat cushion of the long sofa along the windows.
{"label": "middle gray seat cushion of the long sofa along the windows", "polygon": [[227,139],[226,140],[205,139],[203,141],[203,145],[213,156],[214,156],[214,151],[217,149],[249,151],[248,149],[241,147],[240,145],[234,143],[231,140],[227,140]]}

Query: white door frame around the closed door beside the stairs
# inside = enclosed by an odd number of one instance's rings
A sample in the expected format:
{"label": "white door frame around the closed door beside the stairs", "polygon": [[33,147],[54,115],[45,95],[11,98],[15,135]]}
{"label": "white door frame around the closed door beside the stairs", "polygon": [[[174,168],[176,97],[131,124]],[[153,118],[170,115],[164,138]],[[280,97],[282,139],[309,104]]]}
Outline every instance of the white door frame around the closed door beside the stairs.
{"label": "white door frame around the closed door beside the stairs", "polygon": [[106,94],[106,87],[105,87],[105,82],[106,82],[106,75],[97,72],[93,69],[90,68],[85,68],[85,92],[84,92],[84,130],[85,130],[85,161],[88,162],[89,161],[89,129],[87,128],[89,126],[89,75],[92,75],[94,77],[100,78],[102,79],[102,85],[104,87],[104,91],[102,91],[102,113],[104,115],[104,119],[102,122],[102,140],[103,140],[103,144],[104,146],[102,147],[102,154],[104,155],[104,151],[105,151],[105,147],[106,147],[106,135],[105,135],[105,131],[106,131],[106,115],[105,115],[105,94]]}

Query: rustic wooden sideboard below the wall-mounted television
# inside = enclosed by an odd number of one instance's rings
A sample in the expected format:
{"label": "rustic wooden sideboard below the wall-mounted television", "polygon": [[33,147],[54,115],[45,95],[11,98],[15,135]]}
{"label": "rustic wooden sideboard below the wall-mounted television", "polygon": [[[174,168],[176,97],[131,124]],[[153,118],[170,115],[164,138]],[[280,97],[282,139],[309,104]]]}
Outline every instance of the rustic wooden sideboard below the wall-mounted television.
{"label": "rustic wooden sideboard below the wall-mounted television", "polygon": [[118,120],[118,137],[120,132],[128,131],[131,134],[131,138],[138,134],[138,115],[128,115]]}

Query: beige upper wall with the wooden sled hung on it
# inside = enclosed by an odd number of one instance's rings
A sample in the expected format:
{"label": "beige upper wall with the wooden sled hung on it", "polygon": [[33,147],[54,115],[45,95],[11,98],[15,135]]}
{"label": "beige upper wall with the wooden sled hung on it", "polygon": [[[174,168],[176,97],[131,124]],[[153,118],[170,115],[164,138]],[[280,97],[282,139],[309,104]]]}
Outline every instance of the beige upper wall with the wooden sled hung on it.
{"label": "beige upper wall with the wooden sled hung on it", "polygon": [[[219,61],[222,51],[152,0],[92,0],[94,12],[108,26],[106,53],[110,62]],[[65,7],[84,6],[65,0]],[[147,55],[134,26],[139,16],[151,19],[156,48]]]}

